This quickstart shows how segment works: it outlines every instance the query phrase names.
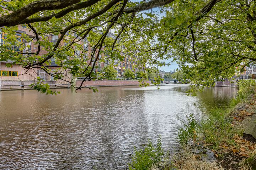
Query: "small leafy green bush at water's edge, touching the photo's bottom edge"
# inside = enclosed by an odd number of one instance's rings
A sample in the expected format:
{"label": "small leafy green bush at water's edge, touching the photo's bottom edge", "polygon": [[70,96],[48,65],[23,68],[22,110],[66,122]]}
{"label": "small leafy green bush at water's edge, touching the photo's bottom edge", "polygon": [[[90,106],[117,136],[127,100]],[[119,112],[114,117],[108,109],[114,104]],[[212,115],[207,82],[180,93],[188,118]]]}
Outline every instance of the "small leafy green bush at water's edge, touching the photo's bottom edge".
{"label": "small leafy green bush at water's edge, touching the photo's bottom edge", "polygon": [[159,136],[156,145],[148,140],[148,144],[143,149],[134,148],[132,162],[129,163],[129,170],[147,170],[153,165],[161,162],[164,156],[162,149],[161,136]]}

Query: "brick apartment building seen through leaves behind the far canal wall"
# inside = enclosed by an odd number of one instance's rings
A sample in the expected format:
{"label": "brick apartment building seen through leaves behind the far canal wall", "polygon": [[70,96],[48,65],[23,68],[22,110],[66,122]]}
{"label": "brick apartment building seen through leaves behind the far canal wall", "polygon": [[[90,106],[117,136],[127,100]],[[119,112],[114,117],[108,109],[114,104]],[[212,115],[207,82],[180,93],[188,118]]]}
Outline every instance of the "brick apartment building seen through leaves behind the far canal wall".
{"label": "brick apartment building seen through leaves behind the far canal wall", "polygon": [[[18,38],[21,37],[22,33],[27,34],[31,38],[35,37],[34,33],[32,31],[30,31],[30,29],[28,29],[25,25],[19,25],[15,36],[17,36],[17,40],[19,40],[21,42],[23,42],[23,40],[18,39]],[[72,34],[74,34],[74,33],[72,33]],[[51,35],[51,34],[49,34],[47,39],[50,42],[55,43],[55,42],[57,42],[59,36],[60,35]],[[112,33],[108,33],[107,36],[111,37],[113,39],[116,38],[116,36]],[[1,44],[4,43],[4,39],[5,39],[5,33],[1,32],[0,33]],[[36,39],[34,39],[32,42],[24,42],[24,44],[27,46],[24,51],[36,52],[38,45],[34,44],[33,42],[36,42]],[[82,45],[83,50],[88,50],[87,56],[90,56],[90,51],[92,51],[92,50],[89,47],[90,42],[87,41],[87,38],[85,38],[84,40],[80,40],[77,43]],[[65,45],[65,42],[63,42],[63,40],[60,43],[60,46],[61,45]],[[123,46],[123,48],[125,48],[125,47]],[[14,49],[14,50],[19,50],[19,49]],[[80,51],[80,50],[76,50],[75,55],[80,55],[81,52],[82,51]],[[41,51],[39,52],[39,55],[43,55],[43,54],[46,54],[46,53],[47,53],[47,51],[42,48]],[[135,76],[136,76],[136,72],[138,72],[139,69],[133,68],[133,65],[137,64],[137,62],[136,62],[137,56],[135,56],[135,55],[134,56],[127,56],[122,52],[121,52],[121,56],[124,57],[123,62],[120,62],[118,60],[113,61],[114,62],[114,68],[117,70],[117,78],[122,78],[123,77],[125,69],[131,69],[135,73]],[[100,55],[100,57],[103,57],[103,54]],[[69,58],[69,60],[70,59],[71,58]],[[12,83],[12,81],[21,81],[21,80],[23,80],[23,81],[32,81],[32,80],[34,80],[33,77],[37,77],[37,76],[39,76],[41,79],[43,79],[45,81],[53,81],[53,77],[48,75],[42,69],[34,68],[34,69],[31,69],[28,72],[28,74],[25,74],[26,70],[24,70],[20,65],[12,64],[12,67],[6,67],[6,64],[11,63],[11,62],[12,61],[0,62],[0,80],[1,80],[2,84],[8,85],[8,84]],[[58,65],[55,63],[55,58],[51,58],[50,63],[51,63],[50,66],[52,66],[51,69],[58,67]],[[106,67],[109,63],[110,63],[109,60],[103,61],[103,62],[97,62],[96,63],[97,68],[94,69],[94,71],[95,72],[101,72],[102,69],[104,67]],[[87,61],[87,64],[89,64],[89,61]],[[72,75],[70,75],[69,78],[70,77],[72,77]]]}

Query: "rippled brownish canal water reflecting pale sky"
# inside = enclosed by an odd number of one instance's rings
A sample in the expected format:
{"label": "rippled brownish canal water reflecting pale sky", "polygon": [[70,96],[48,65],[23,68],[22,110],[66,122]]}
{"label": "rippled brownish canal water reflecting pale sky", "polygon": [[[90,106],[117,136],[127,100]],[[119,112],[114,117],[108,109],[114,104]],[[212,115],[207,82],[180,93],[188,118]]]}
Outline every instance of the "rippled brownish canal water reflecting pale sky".
{"label": "rippled brownish canal water reflecting pale sky", "polygon": [[165,151],[175,152],[177,131],[186,115],[199,119],[225,107],[236,94],[213,87],[187,96],[187,86],[99,87],[0,92],[0,169],[126,169],[134,146],[162,135]]}

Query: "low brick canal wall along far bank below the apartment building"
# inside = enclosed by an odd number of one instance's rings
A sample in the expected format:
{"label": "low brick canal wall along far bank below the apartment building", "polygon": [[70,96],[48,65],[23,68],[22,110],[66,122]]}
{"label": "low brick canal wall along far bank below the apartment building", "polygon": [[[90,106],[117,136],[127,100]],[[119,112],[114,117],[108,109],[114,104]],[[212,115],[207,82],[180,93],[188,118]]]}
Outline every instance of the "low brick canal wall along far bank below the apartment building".
{"label": "low brick canal wall along far bank below the apartment building", "polygon": [[[33,84],[34,81],[1,81],[0,90],[22,90],[22,89],[32,89],[29,85]],[[69,88],[70,84],[60,84],[58,81],[45,81],[50,85],[51,88]],[[76,87],[79,87],[82,80],[76,80]],[[150,84],[150,81],[146,83]],[[86,80],[82,86],[92,86],[92,87],[104,87],[104,86],[133,86],[140,85],[138,80]]]}

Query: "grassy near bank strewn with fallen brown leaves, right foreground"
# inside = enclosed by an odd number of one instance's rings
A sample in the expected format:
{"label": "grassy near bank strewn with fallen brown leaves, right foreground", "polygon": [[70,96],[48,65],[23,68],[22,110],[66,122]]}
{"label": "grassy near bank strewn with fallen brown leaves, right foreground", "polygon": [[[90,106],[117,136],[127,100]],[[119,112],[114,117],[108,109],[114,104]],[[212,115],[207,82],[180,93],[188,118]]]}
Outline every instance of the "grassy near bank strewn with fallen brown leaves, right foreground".
{"label": "grassy near bank strewn with fallen brown leaves, right foreground", "polygon": [[156,146],[149,141],[132,156],[133,170],[250,170],[256,163],[256,145],[242,135],[256,110],[256,83],[239,82],[237,96],[225,109],[212,109],[196,121],[193,114],[179,129],[180,152],[169,155],[162,151],[161,138]]}

